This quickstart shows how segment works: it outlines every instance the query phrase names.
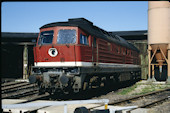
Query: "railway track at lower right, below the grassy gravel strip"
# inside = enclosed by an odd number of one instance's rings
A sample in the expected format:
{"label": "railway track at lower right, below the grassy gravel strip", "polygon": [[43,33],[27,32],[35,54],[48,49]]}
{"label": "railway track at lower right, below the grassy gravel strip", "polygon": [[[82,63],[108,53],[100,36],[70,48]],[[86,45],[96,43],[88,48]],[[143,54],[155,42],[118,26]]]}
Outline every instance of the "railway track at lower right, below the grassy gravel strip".
{"label": "railway track at lower right, below the grassy gravel strip", "polygon": [[[143,95],[138,95],[135,97],[118,100],[116,102],[110,102],[109,105],[114,106],[134,106],[137,105],[137,108],[150,108],[156,105],[159,105],[165,101],[169,101],[170,98],[170,88],[162,89],[159,91],[150,92]],[[97,106],[99,107],[99,106]],[[94,109],[92,107],[90,109]],[[137,109],[135,108],[135,109]]]}

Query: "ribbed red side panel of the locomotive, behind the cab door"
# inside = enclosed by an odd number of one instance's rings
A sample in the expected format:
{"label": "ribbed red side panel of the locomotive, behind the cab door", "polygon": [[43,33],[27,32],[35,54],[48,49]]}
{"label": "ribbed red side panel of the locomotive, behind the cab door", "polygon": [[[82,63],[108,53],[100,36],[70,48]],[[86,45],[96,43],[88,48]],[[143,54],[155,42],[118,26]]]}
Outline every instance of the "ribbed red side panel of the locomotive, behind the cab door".
{"label": "ribbed red side panel of the locomotive, behind the cab door", "polygon": [[139,62],[137,62],[139,60],[139,53],[123,46],[99,39],[98,51],[98,59],[100,63],[139,65]]}

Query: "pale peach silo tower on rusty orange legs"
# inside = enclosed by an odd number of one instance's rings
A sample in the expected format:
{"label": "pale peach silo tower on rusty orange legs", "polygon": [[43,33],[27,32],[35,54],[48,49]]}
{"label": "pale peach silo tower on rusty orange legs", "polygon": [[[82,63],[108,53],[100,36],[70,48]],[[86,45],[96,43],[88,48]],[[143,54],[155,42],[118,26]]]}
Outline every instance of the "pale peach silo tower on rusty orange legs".
{"label": "pale peach silo tower on rusty orange legs", "polygon": [[[166,67],[166,81],[170,82],[170,2],[148,3],[148,79],[155,81],[155,73],[163,76],[163,67]],[[156,67],[159,73],[155,71]]]}

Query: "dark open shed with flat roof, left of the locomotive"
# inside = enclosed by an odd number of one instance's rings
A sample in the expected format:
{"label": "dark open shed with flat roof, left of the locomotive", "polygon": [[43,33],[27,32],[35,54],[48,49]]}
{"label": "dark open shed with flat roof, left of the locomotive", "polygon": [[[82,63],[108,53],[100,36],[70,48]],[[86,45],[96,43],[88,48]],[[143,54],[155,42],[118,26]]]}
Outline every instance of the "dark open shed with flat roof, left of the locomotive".
{"label": "dark open shed with flat roof, left of the locomotive", "polygon": [[27,47],[28,66],[34,64],[33,46],[38,33],[1,33],[1,78],[23,78],[24,48]]}

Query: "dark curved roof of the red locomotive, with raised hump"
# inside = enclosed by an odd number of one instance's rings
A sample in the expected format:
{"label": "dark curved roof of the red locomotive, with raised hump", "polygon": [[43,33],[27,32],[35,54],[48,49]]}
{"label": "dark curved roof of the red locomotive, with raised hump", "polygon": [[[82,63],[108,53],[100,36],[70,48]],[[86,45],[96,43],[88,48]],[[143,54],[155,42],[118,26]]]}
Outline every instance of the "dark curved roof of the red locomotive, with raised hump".
{"label": "dark curved roof of the red locomotive, with raised hump", "polygon": [[137,52],[139,52],[139,50],[133,46],[132,44],[128,43],[125,39],[121,38],[118,35],[114,35],[112,33],[109,33],[95,25],[93,25],[92,22],[90,22],[89,20],[85,19],[85,18],[73,18],[73,19],[68,19],[67,22],[55,22],[55,23],[49,23],[46,24],[42,27],[40,27],[40,29],[42,28],[48,28],[48,27],[55,27],[55,26],[75,26],[75,27],[79,27],[82,30],[84,30],[85,32],[97,37],[97,38],[102,38],[105,39],[109,42],[114,42],[116,44],[125,46],[127,48],[130,48],[132,50],[135,50]]}

